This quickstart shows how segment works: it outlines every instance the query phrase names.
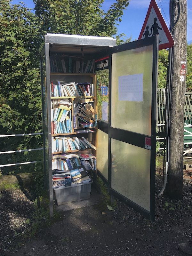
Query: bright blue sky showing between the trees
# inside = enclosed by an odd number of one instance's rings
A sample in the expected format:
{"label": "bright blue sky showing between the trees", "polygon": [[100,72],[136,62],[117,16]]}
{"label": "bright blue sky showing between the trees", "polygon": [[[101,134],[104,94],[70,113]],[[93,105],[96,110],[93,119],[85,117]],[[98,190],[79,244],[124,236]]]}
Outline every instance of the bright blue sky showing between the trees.
{"label": "bright blue sky showing between the trees", "polygon": [[[148,7],[151,0],[131,0],[129,6],[124,11],[122,22],[117,26],[118,34],[124,33],[127,37],[132,36],[132,40],[138,39],[143,26]],[[18,4],[20,1],[13,0],[12,4]],[[34,8],[33,0],[22,0],[28,8]],[[54,2],[54,1],[53,1]],[[107,11],[115,0],[105,0],[102,9]],[[169,0],[156,0],[164,20],[169,28]],[[187,21],[187,41],[192,42],[192,0],[187,0],[188,21]]]}

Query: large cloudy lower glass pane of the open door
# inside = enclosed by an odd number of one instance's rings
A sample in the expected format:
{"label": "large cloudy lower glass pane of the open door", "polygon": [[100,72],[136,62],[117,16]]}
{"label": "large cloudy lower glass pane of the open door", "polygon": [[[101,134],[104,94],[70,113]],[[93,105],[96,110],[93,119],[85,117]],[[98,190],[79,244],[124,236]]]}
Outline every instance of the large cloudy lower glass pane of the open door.
{"label": "large cloudy lower glass pane of the open door", "polygon": [[111,188],[150,211],[150,150],[111,139]]}

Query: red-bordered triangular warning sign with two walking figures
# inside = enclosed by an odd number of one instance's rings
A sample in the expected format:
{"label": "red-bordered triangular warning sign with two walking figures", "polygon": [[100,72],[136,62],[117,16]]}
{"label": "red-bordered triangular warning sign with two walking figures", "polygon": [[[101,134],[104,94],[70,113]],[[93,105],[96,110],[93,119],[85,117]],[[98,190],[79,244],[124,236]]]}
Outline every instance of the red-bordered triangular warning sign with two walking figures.
{"label": "red-bordered triangular warning sign with two walking figures", "polygon": [[159,35],[159,50],[171,48],[174,44],[169,28],[167,27],[155,0],[151,0],[150,2],[138,39],[143,39],[153,35]]}

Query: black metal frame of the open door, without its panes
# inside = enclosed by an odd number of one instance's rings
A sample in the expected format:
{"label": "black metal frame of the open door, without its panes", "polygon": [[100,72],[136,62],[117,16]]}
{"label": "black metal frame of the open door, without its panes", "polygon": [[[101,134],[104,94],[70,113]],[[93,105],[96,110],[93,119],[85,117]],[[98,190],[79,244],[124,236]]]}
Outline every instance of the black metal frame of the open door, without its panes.
{"label": "black metal frame of the open door, without its panes", "polygon": [[[157,102],[157,73],[158,73],[158,35],[148,37],[142,40],[134,41],[127,44],[118,45],[109,49],[109,123],[108,123],[108,192],[124,203],[130,205],[137,212],[140,212],[146,218],[154,221],[155,219],[155,157],[156,157],[156,102]],[[151,136],[124,131],[111,127],[111,67],[112,54],[131,50],[147,45],[153,45],[153,70],[152,70],[152,105],[151,105]],[[103,130],[103,129],[102,129]],[[106,130],[106,128],[105,128]],[[117,133],[120,132],[120,133]],[[131,135],[131,140],[127,140],[125,133]],[[115,136],[118,134],[118,137]],[[146,211],[138,204],[135,204],[125,196],[119,194],[111,188],[111,139],[118,139],[140,148],[146,148],[146,137],[151,138],[151,163],[150,163],[150,211]]]}

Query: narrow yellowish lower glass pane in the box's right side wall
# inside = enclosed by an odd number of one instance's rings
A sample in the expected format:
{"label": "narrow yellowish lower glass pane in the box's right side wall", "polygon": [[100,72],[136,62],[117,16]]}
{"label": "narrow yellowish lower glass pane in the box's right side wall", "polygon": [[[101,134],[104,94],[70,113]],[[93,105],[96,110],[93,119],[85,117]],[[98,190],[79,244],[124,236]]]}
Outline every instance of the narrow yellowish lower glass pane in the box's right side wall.
{"label": "narrow yellowish lower glass pane in the box's right side wall", "polygon": [[97,169],[108,180],[108,134],[98,129],[97,136]]}

